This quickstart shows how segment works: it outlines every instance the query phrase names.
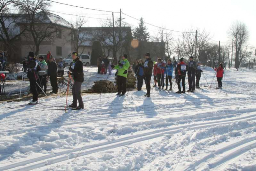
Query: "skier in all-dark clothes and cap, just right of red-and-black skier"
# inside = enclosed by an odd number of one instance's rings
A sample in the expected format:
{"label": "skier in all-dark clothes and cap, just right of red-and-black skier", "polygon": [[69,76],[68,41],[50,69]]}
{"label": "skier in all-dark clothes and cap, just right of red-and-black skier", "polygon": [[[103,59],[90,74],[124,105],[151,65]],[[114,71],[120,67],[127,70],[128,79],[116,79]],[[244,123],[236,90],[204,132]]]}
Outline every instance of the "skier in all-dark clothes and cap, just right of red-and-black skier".
{"label": "skier in all-dark clothes and cap, just right of red-and-black skier", "polygon": [[196,62],[194,58],[191,56],[189,57],[188,62],[188,92],[195,92],[195,77],[196,77]]}

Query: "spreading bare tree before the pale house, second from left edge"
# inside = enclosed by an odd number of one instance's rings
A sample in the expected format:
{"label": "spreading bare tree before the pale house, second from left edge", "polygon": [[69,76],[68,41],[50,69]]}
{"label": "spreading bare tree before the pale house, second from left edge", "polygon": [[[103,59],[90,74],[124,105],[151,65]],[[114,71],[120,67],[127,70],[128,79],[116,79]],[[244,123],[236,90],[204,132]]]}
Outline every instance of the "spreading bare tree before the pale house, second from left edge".
{"label": "spreading bare tree before the pale house, second from left edge", "polygon": [[[49,13],[44,11],[51,4],[46,0],[20,0],[16,5],[19,7],[20,13],[27,14],[27,21],[23,23],[28,27],[25,38],[29,42],[28,44],[32,45],[30,49],[38,55],[43,41],[53,42],[56,34],[58,32],[61,34],[61,27],[57,24],[58,20],[49,21],[47,19]],[[33,43],[30,43],[31,39]]]}

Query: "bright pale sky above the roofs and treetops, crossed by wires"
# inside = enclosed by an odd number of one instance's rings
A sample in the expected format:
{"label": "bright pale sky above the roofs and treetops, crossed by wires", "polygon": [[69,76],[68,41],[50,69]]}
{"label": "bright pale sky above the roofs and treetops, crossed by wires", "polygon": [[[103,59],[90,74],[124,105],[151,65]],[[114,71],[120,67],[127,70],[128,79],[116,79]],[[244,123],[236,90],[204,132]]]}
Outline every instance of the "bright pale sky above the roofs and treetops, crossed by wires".
{"label": "bright pale sky above the roofs and treetops, crossed by wires", "polygon": [[[54,0],[53,0],[54,1]],[[57,2],[93,8],[106,11],[122,12],[139,19],[143,17],[145,22],[171,30],[185,31],[191,27],[198,27],[211,33],[212,39],[220,42],[232,42],[228,38],[228,29],[232,22],[239,20],[244,22],[250,32],[249,44],[256,47],[256,1],[255,0],[55,0]],[[49,9],[68,21],[76,20],[76,16],[60,14],[57,12],[83,15],[94,18],[112,19],[112,13],[87,10],[67,5],[52,3]],[[115,19],[119,18],[114,13]],[[138,26],[139,21],[122,15],[123,21]],[[85,27],[99,27],[100,19],[87,19]],[[132,27],[134,27],[132,26]],[[150,35],[155,35],[158,28],[146,25]],[[172,32],[174,38],[181,33]],[[216,42],[217,43],[217,42]],[[225,44],[222,44],[225,45]]]}

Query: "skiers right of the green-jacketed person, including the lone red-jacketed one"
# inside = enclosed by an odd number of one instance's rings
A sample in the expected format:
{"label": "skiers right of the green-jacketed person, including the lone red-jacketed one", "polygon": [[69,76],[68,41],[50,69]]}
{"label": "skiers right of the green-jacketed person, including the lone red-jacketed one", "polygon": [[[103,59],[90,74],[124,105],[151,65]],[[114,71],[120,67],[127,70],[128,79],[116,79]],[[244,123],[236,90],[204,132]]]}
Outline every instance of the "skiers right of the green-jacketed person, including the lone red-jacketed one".
{"label": "skiers right of the green-jacketed person, including the lone red-jacketed one", "polygon": [[[145,55],[146,61],[143,64],[142,60],[138,60],[138,64],[134,68],[135,76],[137,77],[137,90],[140,91],[143,85],[143,80],[145,81],[146,88],[147,88],[147,94],[145,96],[150,97],[150,78],[148,75],[150,75],[150,72],[148,71],[151,67],[148,66],[148,58],[150,61],[151,58],[149,57],[150,54],[147,53]],[[188,90],[187,92],[195,92],[195,89],[199,87],[199,81],[201,78],[201,73],[203,70],[201,69],[201,62],[194,61],[194,58],[191,56],[189,57],[189,62],[185,63],[184,58],[180,58],[180,63],[177,64],[176,61],[172,64],[172,60],[168,59],[167,63],[163,61],[161,58],[157,59],[157,62],[152,65],[153,67],[153,74],[154,74],[154,85],[153,87],[157,87],[158,89],[164,89],[168,90],[168,86],[170,84],[170,89],[172,90],[172,73],[173,70],[175,72],[175,80],[178,85],[178,91],[176,93],[186,93],[185,88],[185,80],[186,75],[188,76]],[[147,70],[147,74],[145,74],[144,70]],[[222,77],[223,77],[223,65],[220,64],[218,68],[215,68],[216,76],[218,80],[218,88],[222,88]],[[151,71],[152,73],[152,71]],[[164,82],[165,79],[165,82]],[[173,80],[174,82],[174,80]],[[182,90],[180,82],[182,82]],[[157,85],[156,85],[157,83]]]}

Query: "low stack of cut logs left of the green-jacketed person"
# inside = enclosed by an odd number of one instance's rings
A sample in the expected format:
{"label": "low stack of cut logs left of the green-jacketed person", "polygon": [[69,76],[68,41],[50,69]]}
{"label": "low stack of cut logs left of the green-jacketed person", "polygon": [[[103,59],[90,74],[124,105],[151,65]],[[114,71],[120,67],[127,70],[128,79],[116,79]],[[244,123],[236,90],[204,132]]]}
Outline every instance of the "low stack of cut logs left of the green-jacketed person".
{"label": "low stack of cut logs left of the green-jacketed person", "polygon": [[113,93],[117,92],[117,86],[111,81],[100,80],[94,82],[92,86],[93,93]]}

